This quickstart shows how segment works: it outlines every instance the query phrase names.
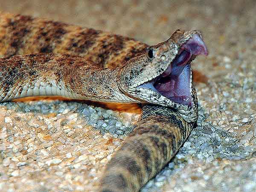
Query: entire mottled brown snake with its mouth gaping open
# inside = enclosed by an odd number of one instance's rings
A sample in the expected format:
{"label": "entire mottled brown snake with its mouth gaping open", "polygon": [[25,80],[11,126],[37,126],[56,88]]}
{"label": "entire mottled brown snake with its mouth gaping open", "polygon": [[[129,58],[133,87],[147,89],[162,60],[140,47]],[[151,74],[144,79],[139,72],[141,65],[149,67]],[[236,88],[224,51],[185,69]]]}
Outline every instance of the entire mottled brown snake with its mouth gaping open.
{"label": "entire mottled brown snake with its mouth gaping open", "polygon": [[148,46],[90,28],[0,13],[0,102],[64,96],[143,103],[108,162],[101,192],[137,192],[183,145],[198,118],[190,63],[207,55],[198,31]]}

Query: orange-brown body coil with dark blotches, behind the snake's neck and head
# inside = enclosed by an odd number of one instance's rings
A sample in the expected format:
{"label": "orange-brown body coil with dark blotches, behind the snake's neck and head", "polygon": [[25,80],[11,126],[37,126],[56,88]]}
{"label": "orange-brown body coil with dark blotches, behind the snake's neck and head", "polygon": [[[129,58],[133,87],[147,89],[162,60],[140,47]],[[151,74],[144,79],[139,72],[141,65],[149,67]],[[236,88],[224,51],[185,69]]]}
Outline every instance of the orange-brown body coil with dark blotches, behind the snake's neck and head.
{"label": "orange-brown body coil with dark blotches, behind the snake's neck and head", "polygon": [[120,66],[147,47],[121,35],[7,13],[0,13],[0,42],[0,57],[51,52],[76,54],[103,68]]}

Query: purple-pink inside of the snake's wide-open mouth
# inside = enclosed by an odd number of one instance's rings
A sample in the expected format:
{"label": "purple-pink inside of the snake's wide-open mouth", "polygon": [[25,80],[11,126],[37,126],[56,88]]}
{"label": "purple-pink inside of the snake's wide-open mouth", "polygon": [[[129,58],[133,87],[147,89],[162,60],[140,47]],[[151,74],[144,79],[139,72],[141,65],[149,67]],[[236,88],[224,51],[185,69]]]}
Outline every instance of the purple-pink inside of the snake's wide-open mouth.
{"label": "purple-pink inside of the snake's wide-open mouth", "polygon": [[191,67],[196,55],[208,55],[207,47],[195,34],[180,47],[178,55],[160,76],[141,85],[160,93],[173,102],[191,104]]}

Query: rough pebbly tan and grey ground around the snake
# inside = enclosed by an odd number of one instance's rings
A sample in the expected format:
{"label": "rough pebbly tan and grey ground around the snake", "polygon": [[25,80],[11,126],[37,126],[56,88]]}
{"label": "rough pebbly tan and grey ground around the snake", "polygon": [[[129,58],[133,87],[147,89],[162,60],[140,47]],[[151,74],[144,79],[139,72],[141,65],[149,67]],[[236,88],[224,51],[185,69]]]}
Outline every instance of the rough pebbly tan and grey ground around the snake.
{"label": "rough pebbly tan and grey ground around the snake", "polygon": [[[172,3],[171,3],[172,2]],[[247,1],[0,0],[0,10],[90,26],[148,44],[199,29],[198,127],[143,192],[256,191],[256,4]],[[132,111],[132,110],[130,110]],[[94,191],[138,113],[81,102],[0,104],[0,191]]]}

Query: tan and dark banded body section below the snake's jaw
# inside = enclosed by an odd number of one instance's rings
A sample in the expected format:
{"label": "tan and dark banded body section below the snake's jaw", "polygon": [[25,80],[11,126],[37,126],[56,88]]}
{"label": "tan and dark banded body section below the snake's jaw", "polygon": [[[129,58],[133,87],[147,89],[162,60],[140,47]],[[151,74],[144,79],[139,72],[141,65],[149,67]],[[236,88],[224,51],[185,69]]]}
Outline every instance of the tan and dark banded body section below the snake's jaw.
{"label": "tan and dark banded body section below the snake's jaw", "polygon": [[138,192],[174,157],[193,123],[170,108],[144,105],[133,133],[109,161],[100,192]]}

